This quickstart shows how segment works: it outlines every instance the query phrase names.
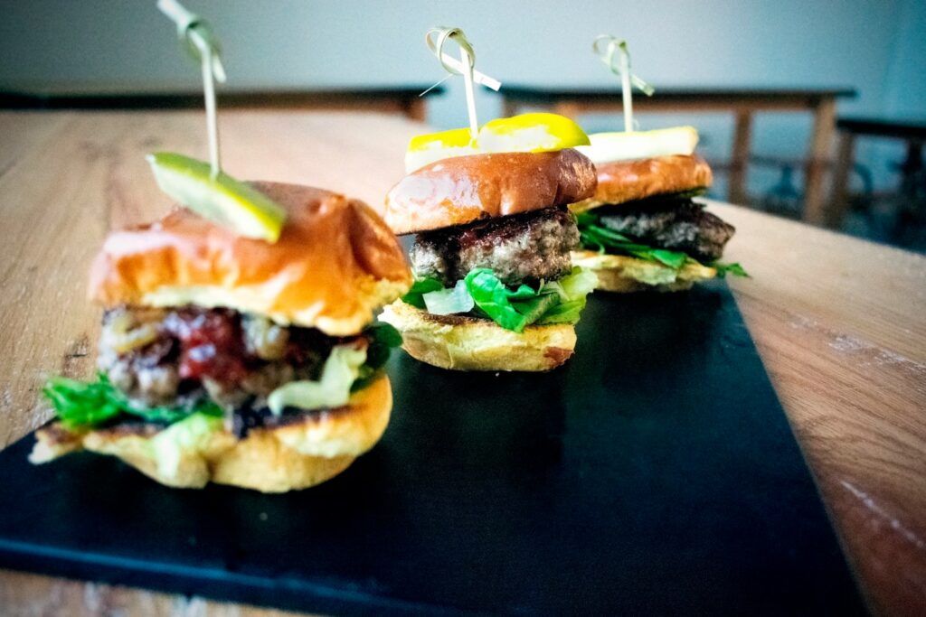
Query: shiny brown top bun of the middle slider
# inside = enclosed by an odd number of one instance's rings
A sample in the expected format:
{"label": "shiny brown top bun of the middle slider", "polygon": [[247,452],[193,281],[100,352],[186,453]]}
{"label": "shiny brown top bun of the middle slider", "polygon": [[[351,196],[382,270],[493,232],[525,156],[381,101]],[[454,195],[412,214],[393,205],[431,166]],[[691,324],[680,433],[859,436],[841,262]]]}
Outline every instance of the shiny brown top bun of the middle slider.
{"label": "shiny brown top bun of the middle slider", "polygon": [[579,202],[594,186],[592,161],[571,148],[455,156],[399,180],[383,218],[397,234],[427,231]]}

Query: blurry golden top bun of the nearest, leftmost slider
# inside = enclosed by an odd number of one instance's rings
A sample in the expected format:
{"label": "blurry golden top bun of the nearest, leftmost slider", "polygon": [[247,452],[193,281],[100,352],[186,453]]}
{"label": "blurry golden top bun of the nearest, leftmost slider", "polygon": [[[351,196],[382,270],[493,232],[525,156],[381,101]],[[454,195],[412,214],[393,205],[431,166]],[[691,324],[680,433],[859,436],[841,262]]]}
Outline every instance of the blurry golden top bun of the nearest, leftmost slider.
{"label": "blurry golden top bun of the nearest, leftmost slider", "polygon": [[109,234],[91,270],[91,298],[227,307],[348,336],[410,287],[405,253],[369,205],[294,184],[253,186],[286,209],[279,241],[237,236],[178,207]]}

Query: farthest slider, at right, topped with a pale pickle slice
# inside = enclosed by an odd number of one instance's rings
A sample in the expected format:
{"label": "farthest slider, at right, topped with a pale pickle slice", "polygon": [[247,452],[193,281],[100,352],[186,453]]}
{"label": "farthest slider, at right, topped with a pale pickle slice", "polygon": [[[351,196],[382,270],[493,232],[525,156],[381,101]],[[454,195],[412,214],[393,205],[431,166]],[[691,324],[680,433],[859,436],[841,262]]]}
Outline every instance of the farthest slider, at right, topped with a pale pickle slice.
{"label": "farthest slider, at right, topped with a pale pickle slice", "polygon": [[578,148],[594,161],[593,197],[570,206],[582,248],[572,263],[590,268],[597,289],[689,289],[728,272],[746,276],[720,258],[735,228],[692,198],[711,183],[710,167],[694,154],[692,127],[598,133]]}

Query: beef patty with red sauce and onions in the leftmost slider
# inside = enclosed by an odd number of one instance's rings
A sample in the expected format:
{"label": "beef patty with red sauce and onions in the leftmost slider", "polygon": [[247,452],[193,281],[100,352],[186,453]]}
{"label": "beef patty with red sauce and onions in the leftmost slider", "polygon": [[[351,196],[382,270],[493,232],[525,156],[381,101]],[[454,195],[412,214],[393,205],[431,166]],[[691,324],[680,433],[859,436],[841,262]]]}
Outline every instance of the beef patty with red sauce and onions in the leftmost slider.
{"label": "beef patty with red sauce and onions in the leftmost slider", "polygon": [[226,408],[259,408],[283,384],[317,379],[332,347],[349,340],[367,343],[230,309],[119,307],[104,315],[97,364],[146,407],[208,395]]}

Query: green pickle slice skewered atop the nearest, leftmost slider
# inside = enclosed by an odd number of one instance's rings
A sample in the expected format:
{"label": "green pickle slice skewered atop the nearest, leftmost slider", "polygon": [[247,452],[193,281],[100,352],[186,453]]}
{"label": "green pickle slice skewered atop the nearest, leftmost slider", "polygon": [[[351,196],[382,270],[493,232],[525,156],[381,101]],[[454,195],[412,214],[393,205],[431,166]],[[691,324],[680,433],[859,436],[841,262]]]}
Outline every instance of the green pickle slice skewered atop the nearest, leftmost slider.
{"label": "green pickle slice skewered atop the nearest, leftmost slider", "polygon": [[286,210],[264,193],[224,172],[212,178],[204,161],[169,152],[148,154],[161,191],[213,223],[244,238],[280,239]]}

